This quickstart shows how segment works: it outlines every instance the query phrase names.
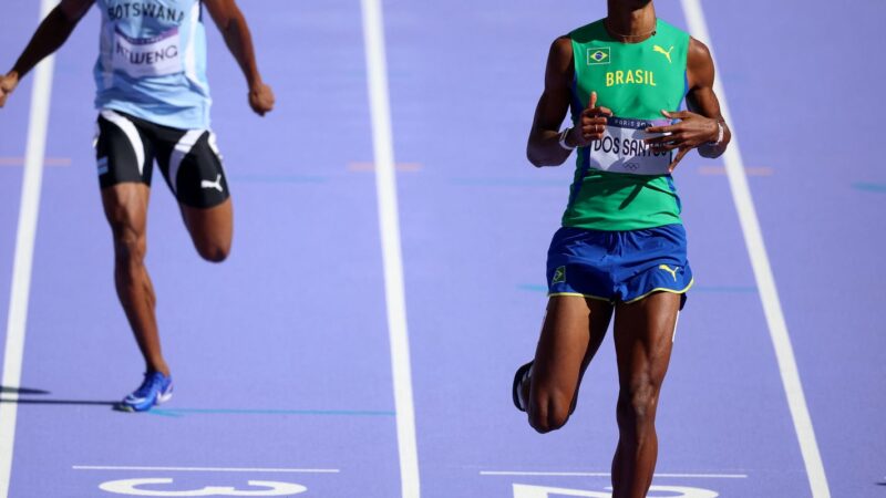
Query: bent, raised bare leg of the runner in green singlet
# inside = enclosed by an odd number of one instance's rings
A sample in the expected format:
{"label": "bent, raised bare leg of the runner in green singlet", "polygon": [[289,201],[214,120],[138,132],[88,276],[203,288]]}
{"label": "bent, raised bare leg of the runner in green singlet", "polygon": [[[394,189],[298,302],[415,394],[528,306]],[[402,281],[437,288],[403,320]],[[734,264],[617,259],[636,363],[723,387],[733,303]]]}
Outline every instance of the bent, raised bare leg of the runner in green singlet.
{"label": "bent, raised bare leg of the runner in green singlet", "polygon": [[566,424],[581,376],[600,346],[612,305],[574,295],[552,297],[535,352],[529,385],[529,425],[539,433]]}

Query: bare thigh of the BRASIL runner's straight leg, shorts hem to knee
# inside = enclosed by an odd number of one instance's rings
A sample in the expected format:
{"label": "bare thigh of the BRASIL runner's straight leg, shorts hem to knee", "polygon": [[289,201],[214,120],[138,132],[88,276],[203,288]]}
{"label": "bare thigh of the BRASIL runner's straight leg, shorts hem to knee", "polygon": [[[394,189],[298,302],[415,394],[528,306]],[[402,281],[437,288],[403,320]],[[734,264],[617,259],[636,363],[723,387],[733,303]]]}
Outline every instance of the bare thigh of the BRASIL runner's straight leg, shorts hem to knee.
{"label": "bare thigh of the BRASIL runner's straight leg, shorts hem to knee", "polygon": [[655,292],[618,303],[615,320],[616,357],[622,394],[657,391],[670,363],[681,295]]}

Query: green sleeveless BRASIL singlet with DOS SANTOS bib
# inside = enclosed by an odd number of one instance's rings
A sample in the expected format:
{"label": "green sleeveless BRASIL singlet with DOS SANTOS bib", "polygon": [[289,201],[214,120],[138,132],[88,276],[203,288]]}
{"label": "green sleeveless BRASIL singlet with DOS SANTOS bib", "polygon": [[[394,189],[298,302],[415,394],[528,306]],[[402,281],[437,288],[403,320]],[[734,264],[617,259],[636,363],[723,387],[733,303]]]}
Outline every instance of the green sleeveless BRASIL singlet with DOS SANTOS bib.
{"label": "green sleeveless BRASIL singlet with DOS SANTOS bib", "polygon": [[677,111],[687,93],[689,35],[663,22],[640,43],[620,43],[602,21],[569,38],[575,58],[573,122],[597,92],[608,107],[606,136],[578,151],[563,225],[595,230],[635,230],[680,221],[680,198],[667,173],[670,154],[652,154],[642,129],[662,124],[662,110]]}

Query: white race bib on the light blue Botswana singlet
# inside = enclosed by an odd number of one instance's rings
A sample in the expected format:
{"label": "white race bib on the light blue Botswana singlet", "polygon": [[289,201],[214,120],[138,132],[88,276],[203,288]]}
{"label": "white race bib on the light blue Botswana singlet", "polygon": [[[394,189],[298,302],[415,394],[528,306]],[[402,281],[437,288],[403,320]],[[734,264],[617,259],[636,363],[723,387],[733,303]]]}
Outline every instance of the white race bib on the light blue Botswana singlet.
{"label": "white race bib on the light blue Botswana singlet", "polygon": [[114,70],[132,77],[165,76],[184,69],[178,28],[154,38],[134,39],[114,30]]}

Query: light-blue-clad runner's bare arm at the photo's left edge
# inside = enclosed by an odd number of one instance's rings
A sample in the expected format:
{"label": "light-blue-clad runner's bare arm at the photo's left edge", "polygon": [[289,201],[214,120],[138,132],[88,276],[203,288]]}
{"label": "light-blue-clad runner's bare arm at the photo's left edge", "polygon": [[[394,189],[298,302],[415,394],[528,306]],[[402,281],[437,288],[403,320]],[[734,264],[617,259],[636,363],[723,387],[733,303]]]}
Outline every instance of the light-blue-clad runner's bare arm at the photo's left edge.
{"label": "light-blue-clad runner's bare arm at the photo's left edge", "polygon": [[7,103],[9,94],[16,90],[19,80],[24,77],[43,58],[52,54],[64,44],[95,0],[62,0],[43,19],[28,46],[7,74],[0,76],[0,107]]}

